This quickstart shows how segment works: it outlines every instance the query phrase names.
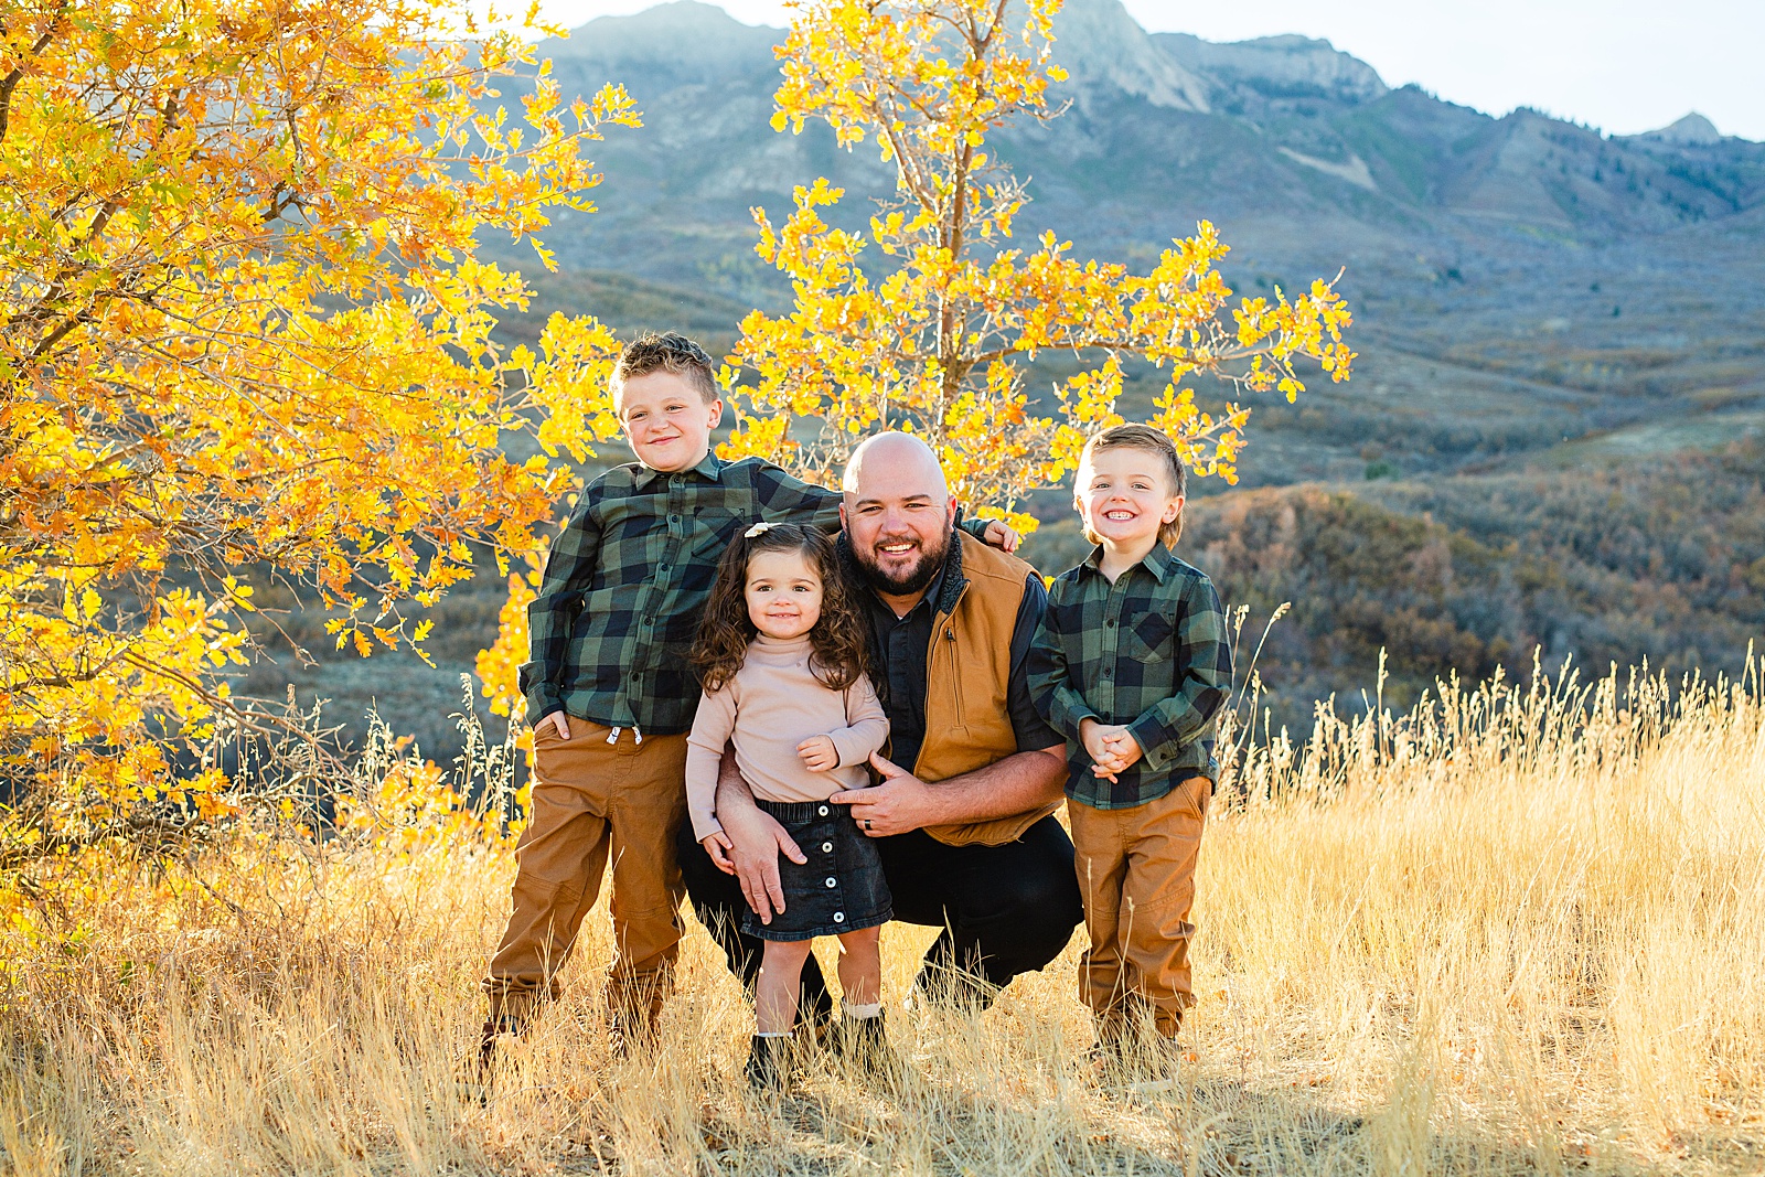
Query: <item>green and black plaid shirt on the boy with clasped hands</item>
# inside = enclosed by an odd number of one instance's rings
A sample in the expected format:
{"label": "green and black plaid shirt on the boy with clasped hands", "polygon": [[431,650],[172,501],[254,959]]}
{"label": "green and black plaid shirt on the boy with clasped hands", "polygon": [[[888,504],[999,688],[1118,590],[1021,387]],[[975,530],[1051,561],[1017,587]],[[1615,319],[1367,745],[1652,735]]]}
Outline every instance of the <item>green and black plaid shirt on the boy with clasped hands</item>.
{"label": "green and black plaid shirt on the boy with clasped hands", "polygon": [[[1214,718],[1232,690],[1220,593],[1163,544],[1115,577],[1103,549],[1048,586],[1029,655],[1031,693],[1066,736],[1066,796],[1100,810],[1145,805],[1190,776],[1218,776]],[[1123,723],[1142,757],[1117,782],[1091,771],[1078,722]]]}

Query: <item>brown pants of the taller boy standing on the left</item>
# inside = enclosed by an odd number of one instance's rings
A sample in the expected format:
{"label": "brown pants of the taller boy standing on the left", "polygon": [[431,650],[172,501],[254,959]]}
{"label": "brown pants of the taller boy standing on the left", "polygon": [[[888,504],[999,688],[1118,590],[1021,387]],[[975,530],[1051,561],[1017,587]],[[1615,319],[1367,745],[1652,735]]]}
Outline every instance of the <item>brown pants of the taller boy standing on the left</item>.
{"label": "brown pants of the taller boy standing on the left", "polygon": [[655,1020],[681,937],[674,835],[687,813],[687,736],[644,736],[570,718],[533,734],[533,803],[515,845],[514,912],[484,988],[491,1016],[524,1022],[558,995],[582,918],[612,858],[612,969],[607,1011],[637,1031]]}

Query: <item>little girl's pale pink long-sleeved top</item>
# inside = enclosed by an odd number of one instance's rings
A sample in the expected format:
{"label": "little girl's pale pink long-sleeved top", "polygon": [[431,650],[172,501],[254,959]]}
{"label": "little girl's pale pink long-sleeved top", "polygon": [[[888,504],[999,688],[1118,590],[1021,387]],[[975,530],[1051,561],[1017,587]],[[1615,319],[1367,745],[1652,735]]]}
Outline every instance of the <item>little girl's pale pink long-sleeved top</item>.
{"label": "little girl's pale pink long-sleeved top", "polygon": [[[870,679],[830,690],[808,669],[808,637],[780,641],[761,633],[736,676],[699,699],[687,736],[687,813],[692,835],[704,840],[717,821],[717,773],[724,746],[736,745],[736,766],[762,801],[824,801],[870,783],[870,753],[888,739],[888,718]],[[840,753],[837,768],[814,771],[796,746],[828,736]]]}

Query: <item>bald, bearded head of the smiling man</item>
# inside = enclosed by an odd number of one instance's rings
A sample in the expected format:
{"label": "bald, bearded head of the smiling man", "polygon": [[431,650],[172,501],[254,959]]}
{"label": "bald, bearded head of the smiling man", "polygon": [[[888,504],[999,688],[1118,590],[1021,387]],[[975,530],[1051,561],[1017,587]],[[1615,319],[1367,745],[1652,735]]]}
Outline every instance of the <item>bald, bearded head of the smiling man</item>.
{"label": "bald, bearded head of the smiling man", "polygon": [[845,462],[840,519],[858,566],[886,596],[925,591],[950,551],[950,484],[932,446],[904,432],[882,432]]}

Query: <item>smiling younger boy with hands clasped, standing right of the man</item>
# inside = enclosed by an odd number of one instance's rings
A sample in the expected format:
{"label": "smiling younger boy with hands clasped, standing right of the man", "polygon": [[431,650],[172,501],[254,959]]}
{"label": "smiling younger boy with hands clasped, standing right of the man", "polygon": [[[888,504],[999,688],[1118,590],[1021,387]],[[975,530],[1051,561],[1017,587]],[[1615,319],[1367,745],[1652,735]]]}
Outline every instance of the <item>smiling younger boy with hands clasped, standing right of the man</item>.
{"label": "smiling younger boy with hands clasped, standing right of the man", "polygon": [[1073,503],[1098,547],[1048,588],[1029,660],[1036,706],[1066,736],[1091,935],[1078,999],[1105,1057],[1147,1009],[1168,1043],[1195,1004],[1188,919],[1232,648],[1213,582],[1170,552],[1184,494],[1163,432],[1117,425],[1085,443]]}

